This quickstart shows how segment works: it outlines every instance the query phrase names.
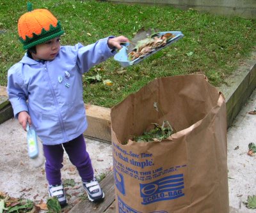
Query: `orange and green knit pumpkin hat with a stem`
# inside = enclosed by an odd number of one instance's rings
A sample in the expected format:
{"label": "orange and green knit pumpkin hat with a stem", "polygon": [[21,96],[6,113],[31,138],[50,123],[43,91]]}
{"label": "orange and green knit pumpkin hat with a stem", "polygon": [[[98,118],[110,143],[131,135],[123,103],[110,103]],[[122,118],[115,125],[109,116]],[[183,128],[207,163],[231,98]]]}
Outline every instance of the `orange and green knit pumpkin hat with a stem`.
{"label": "orange and green knit pumpkin hat with a stem", "polygon": [[28,3],[28,12],[23,14],[18,21],[19,40],[24,50],[49,41],[64,33],[60,21],[49,10],[32,10]]}

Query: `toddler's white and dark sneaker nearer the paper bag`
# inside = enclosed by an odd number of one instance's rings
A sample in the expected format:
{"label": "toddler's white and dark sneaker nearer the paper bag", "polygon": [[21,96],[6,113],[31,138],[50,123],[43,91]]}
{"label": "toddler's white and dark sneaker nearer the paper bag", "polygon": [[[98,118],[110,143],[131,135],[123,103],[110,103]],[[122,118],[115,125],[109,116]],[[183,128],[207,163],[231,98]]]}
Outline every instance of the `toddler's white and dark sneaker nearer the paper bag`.
{"label": "toddler's white and dark sneaker nearer the paper bag", "polygon": [[83,181],[83,187],[87,193],[88,199],[91,202],[99,201],[104,198],[104,193],[100,188],[99,182],[97,181],[97,179],[95,179],[95,177],[93,178],[93,180],[89,182]]}

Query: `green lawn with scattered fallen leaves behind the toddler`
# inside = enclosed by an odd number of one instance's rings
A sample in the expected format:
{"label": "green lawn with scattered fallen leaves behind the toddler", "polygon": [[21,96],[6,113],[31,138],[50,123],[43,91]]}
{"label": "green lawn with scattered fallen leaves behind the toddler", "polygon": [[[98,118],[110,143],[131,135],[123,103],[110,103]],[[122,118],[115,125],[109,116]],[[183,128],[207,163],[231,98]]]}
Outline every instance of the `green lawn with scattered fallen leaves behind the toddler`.
{"label": "green lawn with scattered fallen leaves behind the toddler", "polygon": [[[0,85],[6,85],[8,69],[24,55],[18,41],[17,20],[26,2],[0,2]],[[141,27],[182,31],[184,38],[134,66],[121,68],[108,59],[84,74],[84,102],[113,107],[154,78],[203,73],[212,85],[220,85],[256,44],[256,20],[221,17],[170,6],[112,4],[106,1],[31,1],[33,8],[47,8],[61,21],[62,45],[94,43],[109,35],[130,40]],[[10,5],[12,4],[12,5]],[[4,32],[4,33],[3,33]],[[113,85],[89,82],[99,74]]]}

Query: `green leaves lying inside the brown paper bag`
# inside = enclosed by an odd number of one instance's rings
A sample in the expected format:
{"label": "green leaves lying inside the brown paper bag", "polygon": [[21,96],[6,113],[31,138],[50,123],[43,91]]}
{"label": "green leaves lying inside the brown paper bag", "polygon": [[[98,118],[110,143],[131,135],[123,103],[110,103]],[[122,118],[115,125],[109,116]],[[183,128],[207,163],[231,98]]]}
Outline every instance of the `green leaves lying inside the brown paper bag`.
{"label": "green leaves lying inside the brown paper bag", "polygon": [[153,129],[150,129],[150,131],[145,131],[140,136],[133,136],[134,142],[161,142],[162,140],[170,137],[174,130],[170,124],[169,121],[163,121],[162,125],[159,125],[157,123],[152,123],[154,125]]}

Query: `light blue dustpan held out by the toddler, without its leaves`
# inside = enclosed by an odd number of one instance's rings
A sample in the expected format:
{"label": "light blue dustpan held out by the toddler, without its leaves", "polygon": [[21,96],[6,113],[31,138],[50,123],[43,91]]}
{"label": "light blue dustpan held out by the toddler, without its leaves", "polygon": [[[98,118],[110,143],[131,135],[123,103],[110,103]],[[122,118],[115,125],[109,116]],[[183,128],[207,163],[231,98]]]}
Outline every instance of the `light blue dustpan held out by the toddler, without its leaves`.
{"label": "light blue dustpan held out by the toddler, without its leaves", "polygon": [[[166,45],[164,47],[167,47],[168,45],[170,45],[171,43],[180,40],[180,38],[182,38],[184,36],[184,34],[182,34],[180,31],[166,31],[166,32],[160,32],[160,33],[156,33],[153,34],[151,37],[155,37],[155,36],[162,36],[166,33],[172,33],[175,35],[175,37],[173,37],[172,39],[168,40],[168,42],[166,43]],[[150,52],[150,54],[145,55],[144,57],[139,57],[137,59],[134,59],[133,61],[129,61],[128,59],[128,47],[129,43],[124,43],[124,45],[122,45],[122,49],[118,51],[117,54],[115,54],[114,59],[115,61],[118,61],[120,63],[120,65],[122,67],[126,67],[126,66],[131,66],[133,64],[137,64],[138,62],[146,59],[147,57],[149,57],[152,54],[155,54],[156,52],[158,52],[159,50],[163,49],[164,47],[160,47],[157,48],[156,50],[153,50],[152,52]]]}

